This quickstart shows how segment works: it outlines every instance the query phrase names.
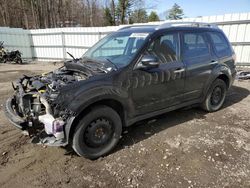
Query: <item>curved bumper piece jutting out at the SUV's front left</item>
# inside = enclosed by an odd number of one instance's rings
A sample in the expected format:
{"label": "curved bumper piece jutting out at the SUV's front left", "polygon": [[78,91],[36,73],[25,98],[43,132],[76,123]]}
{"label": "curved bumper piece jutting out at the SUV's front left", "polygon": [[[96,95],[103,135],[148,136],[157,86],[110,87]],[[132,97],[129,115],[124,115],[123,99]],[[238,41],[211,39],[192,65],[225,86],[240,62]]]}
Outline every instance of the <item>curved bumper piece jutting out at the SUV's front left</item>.
{"label": "curved bumper piece jutting out at the SUV's front left", "polygon": [[4,109],[5,115],[7,119],[15,127],[21,130],[25,130],[25,127],[27,126],[27,122],[15,112],[14,106],[15,106],[14,97],[8,98],[5,104],[5,109]]}

